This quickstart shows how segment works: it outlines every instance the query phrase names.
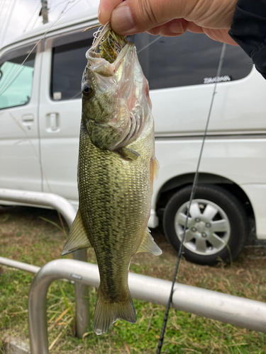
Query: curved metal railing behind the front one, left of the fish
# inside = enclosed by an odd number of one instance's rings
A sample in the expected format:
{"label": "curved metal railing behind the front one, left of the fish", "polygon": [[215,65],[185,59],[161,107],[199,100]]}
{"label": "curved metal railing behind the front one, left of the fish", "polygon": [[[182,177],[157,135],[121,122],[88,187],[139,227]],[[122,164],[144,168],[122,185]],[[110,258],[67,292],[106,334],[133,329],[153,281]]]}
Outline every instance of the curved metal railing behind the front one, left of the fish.
{"label": "curved metal railing behind the front one, left of the fish", "polygon": [[[64,217],[69,227],[71,227],[72,222],[74,221],[74,217],[76,216],[76,210],[74,210],[74,207],[70,204],[70,202],[68,202],[65,198],[60,197],[60,195],[56,195],[52,193],[40,193],[40,192],[30,192],[28,190],[26,191],[26,190],[13,190],[13,189],[0,188],[0,200],[6,200],[9,202],[21,202],[23,204],[28,204],[28,205],[52,207],[53,209],[60,212],[60,214]],[[87,262],[87,251],[86,250],[76,251],[73,253],[73,258],[79,261]],[[26,265],[26,268],[27,267],[35,267],[35,266],[28,264]],[[31,270],[27,270],[27,271],[31,271]],[[87,299],[87,296],[88,296],[88,287],[86,285],[82,285],[78,282],[75,282],[76,324],[77,324],[76,330],[77,330],[77,336],[79,338],[82,338],[83,334],[86,331],[85,329],[89,323],[89,299]]]}

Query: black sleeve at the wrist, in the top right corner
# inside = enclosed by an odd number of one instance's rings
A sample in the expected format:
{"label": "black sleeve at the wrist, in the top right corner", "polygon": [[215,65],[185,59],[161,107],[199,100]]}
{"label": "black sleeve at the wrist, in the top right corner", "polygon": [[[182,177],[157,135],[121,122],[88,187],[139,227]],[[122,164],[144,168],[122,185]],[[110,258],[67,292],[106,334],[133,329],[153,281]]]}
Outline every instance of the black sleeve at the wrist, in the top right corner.
{"label": "black sleeve at the wrist, in the top right corner", "polygon": [[238,0],[229,35],[266,79],[266,0]]}

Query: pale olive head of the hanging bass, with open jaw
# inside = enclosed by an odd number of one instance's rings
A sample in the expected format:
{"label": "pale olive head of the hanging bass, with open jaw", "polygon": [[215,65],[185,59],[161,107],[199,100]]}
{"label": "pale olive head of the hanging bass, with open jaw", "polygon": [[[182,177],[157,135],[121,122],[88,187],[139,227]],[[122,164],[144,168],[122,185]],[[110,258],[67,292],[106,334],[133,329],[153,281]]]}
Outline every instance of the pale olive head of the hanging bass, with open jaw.
{"label": "pale olive head of the hanging bass, with open jaw", "polygon": [[128,42],[113,62],[88,50],[82,78],[82,122],[92,142],[117,150],[137,139],[150,110],[148,81]]}

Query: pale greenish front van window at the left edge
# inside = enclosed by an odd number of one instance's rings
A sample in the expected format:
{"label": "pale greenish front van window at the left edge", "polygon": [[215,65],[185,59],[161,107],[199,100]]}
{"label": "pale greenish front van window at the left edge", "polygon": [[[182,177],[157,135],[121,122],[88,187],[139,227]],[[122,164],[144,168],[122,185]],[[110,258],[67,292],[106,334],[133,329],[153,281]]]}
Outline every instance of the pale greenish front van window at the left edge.
{"label": "pale greenish front van window at the left edge", "polygon": [[0,109],[26,105],[31,100],[35,53],[9,58],[0,63]]}

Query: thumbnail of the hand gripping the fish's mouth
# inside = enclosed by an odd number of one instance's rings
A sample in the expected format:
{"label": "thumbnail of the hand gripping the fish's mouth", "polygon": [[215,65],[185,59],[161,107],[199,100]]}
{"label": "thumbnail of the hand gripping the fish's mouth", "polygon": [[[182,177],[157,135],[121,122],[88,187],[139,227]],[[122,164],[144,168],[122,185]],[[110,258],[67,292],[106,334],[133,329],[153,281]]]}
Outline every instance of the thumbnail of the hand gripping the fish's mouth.
{"label": "thumbnail of the hand gripping the fish's mouth", "polygon": [[113,10],[111,25],[118,33],[125,33],[135,26],[131,9],[127,4],[122,3]]}

